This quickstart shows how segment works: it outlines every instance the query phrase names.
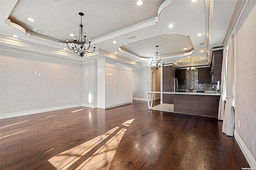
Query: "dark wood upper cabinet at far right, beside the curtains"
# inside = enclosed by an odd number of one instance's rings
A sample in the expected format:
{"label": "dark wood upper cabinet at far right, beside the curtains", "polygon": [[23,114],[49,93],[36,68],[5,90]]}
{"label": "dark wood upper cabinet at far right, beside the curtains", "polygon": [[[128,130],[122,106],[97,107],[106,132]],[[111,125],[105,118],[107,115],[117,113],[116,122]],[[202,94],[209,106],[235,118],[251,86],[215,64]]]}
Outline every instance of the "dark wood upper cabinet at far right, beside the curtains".
{"label": "dark wood upper cabinet at far right, beside the curtains", "polygon": [[221,81],[223,49],[213,51],[212,54],[212,82]]}

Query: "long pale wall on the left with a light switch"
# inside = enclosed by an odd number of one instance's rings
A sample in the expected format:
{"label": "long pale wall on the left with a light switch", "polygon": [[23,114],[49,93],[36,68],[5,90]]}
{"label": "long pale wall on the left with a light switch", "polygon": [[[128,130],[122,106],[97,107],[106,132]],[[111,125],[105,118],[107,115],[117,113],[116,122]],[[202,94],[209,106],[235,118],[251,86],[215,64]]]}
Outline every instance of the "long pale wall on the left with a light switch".
{"label": "long pale wall on the left with a light switch", "polygon": [[[5,49],[0,52],[1,118],[81,104],[81,63]],[[40,76],[35,76],[34,71]]]}

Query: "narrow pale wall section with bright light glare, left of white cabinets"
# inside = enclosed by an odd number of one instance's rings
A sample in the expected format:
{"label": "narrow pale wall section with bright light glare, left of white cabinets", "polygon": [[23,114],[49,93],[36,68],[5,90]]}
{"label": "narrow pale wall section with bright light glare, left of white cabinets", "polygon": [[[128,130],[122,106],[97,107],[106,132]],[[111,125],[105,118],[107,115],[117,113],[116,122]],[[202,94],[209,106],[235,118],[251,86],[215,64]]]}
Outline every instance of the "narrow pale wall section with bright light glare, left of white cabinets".
{"label": "narrow pale wall section with bright light glare, left of white cabinets", "polygon": [[97,107],[97,61],[82,63],[82,106]]}

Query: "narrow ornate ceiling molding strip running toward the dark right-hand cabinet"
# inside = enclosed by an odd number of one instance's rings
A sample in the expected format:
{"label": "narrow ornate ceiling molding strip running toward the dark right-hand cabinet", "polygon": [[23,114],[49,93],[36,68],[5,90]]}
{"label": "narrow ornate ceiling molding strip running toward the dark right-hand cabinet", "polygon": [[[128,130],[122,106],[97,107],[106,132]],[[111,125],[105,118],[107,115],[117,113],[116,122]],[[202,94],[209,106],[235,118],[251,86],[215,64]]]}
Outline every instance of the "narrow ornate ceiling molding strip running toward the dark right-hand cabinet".
{"label": "narrow ornate ceiling molding strip running toward the dark right-hand cabinet", "polygon": [[210,40],[211,40],[211,31],[212,31],[212,13],[213,13],[213,0],[206,0],[206,53],[207,59],[209,62],[210,59]]}

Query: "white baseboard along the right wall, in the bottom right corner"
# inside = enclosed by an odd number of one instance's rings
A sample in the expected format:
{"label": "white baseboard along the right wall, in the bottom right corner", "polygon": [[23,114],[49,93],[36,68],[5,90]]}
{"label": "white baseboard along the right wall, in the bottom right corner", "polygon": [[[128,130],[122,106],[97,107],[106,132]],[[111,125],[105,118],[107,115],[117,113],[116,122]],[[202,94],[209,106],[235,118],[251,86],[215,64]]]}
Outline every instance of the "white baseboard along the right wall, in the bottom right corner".
{"label": "white baseboard along the right wall, in the bottom right corner", "polygon": [[242,139],[240,138],[240,136],[238,135],[236,130],[234,130],[234,138],[236,139],[236,142],[238,143],[239,147],[241,148],[241,150],[242,150],[248,164],[250,165],[250,167],[251,168],[256,168],[255,159],[252,157],[252,154],[247,149],[247,147],[245,146],[244,142],[242,141]]}

